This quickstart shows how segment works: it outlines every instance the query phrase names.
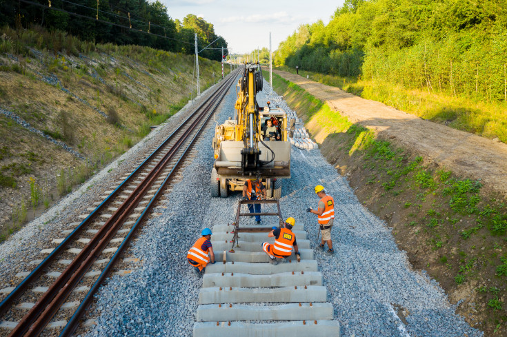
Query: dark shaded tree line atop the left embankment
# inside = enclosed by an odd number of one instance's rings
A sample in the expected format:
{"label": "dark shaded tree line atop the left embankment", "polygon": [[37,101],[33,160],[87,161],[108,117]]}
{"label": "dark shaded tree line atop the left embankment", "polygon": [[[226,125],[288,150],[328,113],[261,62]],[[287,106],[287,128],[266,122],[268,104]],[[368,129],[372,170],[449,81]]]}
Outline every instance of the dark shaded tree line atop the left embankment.
{"label": "dark shaded tree line atop the left embankment", "polygon": [[[195,53],[197,33],[199,50],[217,38],[210,48],[227,48],[212,23],[194,14],[183,22],[173,20],[158,0],[0,0],[0,26],[4,25],[41,25],[86,41],[145,45],[185,54]],[[199,55],[221,60],[219,49],[206,49]]]}

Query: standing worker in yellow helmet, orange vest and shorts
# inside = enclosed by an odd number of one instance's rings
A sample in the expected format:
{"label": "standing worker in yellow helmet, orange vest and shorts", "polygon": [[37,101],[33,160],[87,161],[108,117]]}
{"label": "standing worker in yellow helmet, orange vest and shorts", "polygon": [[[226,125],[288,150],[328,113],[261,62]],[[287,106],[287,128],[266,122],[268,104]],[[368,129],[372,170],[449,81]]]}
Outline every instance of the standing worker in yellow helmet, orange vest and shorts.
{"label": "standing worker in yellow helmet, orange vest and shorts", "polygon": [[335,220],[335,199],[326,194],[324,186],[322,185],[315,186],[315,193],[320,198],[317,210],[308,208],[306,212],[317,214],[322,237],[319,249],[324,251],[324,244],[328,243],[329,250],[326,254],[332,255],[335,254],[335,251],[332,249],[331,241],[331,227]]}

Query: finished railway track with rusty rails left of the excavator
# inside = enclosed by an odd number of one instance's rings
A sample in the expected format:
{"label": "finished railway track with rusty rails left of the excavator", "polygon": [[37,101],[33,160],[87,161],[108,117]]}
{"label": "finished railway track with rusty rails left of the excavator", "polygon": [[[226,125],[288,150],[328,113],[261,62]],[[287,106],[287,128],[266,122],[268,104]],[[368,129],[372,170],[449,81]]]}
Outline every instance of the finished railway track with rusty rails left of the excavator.
{"label": "finished railway track with rusty rails left of the excavator", "polygon": [[46,257],[32,261],[37,267],[18,274],[24,279],[17,287],[2,289],[0,336],[73,333],[237,74],[239,70],[230,74],[131,174],[101,196],[97,207],[80,215],[81,222],[70,223],[63,232],[67,236],[53,241],[57,247],[44,249],[41,257]]}

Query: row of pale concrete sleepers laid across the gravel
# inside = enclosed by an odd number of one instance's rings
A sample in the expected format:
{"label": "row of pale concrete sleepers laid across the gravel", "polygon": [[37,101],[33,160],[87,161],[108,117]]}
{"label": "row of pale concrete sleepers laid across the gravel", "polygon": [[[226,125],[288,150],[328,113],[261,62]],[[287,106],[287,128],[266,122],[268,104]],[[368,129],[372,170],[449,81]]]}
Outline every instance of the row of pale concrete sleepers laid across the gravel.
{"label": "row of pale concrete sleepers laid across the gravel", "polygon": [[[245,226],[248,227],[248,226]],[[194,337],[201,336],[333,336],[339,323],[313,259],[303,225],[295,225],[301,261],[292,254],[272,265],[261,243],[274,243],[268,233],[241,233],[238,245],[232,225],[215,225],[214,265],[206,267],[199,292]],[[223,254],[226,252],[226,263]]]}

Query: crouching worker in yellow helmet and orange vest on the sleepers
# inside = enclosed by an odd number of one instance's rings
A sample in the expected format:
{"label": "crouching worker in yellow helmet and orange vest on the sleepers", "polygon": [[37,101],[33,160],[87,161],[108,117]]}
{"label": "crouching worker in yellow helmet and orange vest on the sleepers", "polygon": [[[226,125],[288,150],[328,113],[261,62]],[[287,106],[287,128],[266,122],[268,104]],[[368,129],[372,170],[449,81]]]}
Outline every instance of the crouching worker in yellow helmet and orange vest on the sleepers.
{"label": "crouching worker in yellow helmet and orange vest on the sleepers", "polygon": [[285,228],[272,227],[273,230],[268,234],[268,237],[274,237],[275,243],[272,245],[267,242],[262,243],[262,250],[268,254],[270,258],[269,262],[272,265],[278,264],[276,258],[284,258],[285,262],[285,259],[292,254],[292,246],[294,247],[299,261],[301,253],[299,253],[299,250],[297,249],[296,234],[294,234],[291,230],[295,223],[295,218],[291,217],[287,218],[285,221]]}

